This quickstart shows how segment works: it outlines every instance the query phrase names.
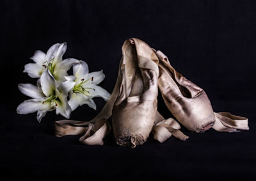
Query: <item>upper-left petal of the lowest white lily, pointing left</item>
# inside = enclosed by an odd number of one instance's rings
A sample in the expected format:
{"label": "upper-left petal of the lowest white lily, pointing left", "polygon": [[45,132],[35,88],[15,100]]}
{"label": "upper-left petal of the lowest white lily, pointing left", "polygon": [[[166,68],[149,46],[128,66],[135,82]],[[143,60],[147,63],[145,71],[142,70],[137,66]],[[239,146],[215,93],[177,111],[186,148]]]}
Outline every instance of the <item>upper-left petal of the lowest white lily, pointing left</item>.
{"label": "upper-left petal of the lowest white lily, pointing left", "polygon": [[44,93],[33,84],[18,84],[19,90],[24,94],[32,98],[42,98]]}

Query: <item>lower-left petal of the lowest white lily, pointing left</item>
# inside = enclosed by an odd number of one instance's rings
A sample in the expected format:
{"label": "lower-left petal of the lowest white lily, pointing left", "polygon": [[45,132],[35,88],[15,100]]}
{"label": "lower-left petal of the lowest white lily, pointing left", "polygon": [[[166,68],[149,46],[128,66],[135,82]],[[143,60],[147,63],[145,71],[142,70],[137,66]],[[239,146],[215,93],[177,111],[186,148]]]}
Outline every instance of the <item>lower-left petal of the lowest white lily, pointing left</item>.
{"label": "lower-left petal of the lowest white lily, pointing left", "polygon": [[51,109],[51,104],[49,102],[44,102],[43,104],[43,102],[37,99],[29,99],[29,100],[25,100],[17,107],[17,113],[29,114],[29,113],[34,113],[40,110],[46,110],[46,109]]}

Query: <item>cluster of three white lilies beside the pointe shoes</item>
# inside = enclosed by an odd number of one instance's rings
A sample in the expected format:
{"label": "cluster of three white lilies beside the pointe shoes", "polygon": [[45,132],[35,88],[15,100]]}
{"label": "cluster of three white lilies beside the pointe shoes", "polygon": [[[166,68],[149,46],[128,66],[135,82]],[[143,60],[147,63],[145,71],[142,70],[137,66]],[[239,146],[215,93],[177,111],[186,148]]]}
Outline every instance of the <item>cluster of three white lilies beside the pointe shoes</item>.
{"label": "cluster of three white lilies beside the pointe shoes", "polygon": [[[84,61],[74,58],[62,60],[67,50],[67,43],[56,43],[45,54],[36,51],[31,57],[35,63],[25,65],[24,72],[32,78],[39,78],[37,86],[33,84],[19,84],[19,90],[31,97],[17,107],[17,113],[28,114],[37,111],[40,122],[48,111],[56,110],[65,118],[78,106],[87,104],[96,109],[93,97],[108,100],[110,94],[97,86],[105,75],[102,70],[89,73],[88,65]],[[73,75],[67,71],[73,68]]]}

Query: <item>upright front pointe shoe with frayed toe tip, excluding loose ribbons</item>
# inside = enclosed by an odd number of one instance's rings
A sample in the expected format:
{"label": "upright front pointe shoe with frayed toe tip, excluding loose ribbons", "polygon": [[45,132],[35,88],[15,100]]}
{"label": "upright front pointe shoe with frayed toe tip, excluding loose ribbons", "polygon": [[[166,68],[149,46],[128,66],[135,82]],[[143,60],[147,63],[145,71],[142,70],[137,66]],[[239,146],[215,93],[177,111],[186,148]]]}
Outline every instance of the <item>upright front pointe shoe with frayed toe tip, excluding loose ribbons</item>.
{"label": "upright front pointe shoe with frayed toe tip, excluding loose ribbons", "polygon": [[135,148],[147,140],[157,111],[158,58],[147,43],[124,42],[120,65],[120,93],[112,111],[116,143]]}

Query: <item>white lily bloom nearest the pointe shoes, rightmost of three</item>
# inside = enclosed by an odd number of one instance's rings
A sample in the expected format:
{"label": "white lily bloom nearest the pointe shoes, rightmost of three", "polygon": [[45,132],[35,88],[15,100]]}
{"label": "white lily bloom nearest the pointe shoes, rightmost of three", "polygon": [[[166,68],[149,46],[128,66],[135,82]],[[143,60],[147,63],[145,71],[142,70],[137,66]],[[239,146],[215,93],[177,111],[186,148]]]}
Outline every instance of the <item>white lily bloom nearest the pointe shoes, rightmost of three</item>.
{"label": "white lily bloom nearest the pointe shoes, rightmost of three", "polygon": [[106,101],[110,97],[108,91],[97,86],[105,78],[103,71],[90,74],[88,72],[88,65],[84,61],[79,61],[79,63],[73,65],[74,75],[65,77],[67,81],[60,85],[63,89],[71,90],[68,104],[72,111],[83,104],[87,104],[96,110],[96,104],[92,100],[93,97],[102,97]]}

